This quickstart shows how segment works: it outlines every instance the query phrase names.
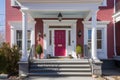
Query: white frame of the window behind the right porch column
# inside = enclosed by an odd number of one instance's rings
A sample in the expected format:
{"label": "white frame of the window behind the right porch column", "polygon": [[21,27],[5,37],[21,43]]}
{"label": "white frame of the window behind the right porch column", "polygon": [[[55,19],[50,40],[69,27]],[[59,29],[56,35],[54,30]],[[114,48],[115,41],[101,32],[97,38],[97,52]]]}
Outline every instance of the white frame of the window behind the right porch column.
{"label": "white frame of the window behind the right porch column", "polygon": [[[107,24],[109,21],[97,21],[97,29],[103,29],[103,39],[104,39],[104,44],[103,44],[103,49],[97,49],[97,56],[99,59],[107,59]],[[84,24],[84,45],[87,45],[88,43],[88,30],[92,28],[91,21],[83,21]],[[101,54],[103,53],[103,54]]]}

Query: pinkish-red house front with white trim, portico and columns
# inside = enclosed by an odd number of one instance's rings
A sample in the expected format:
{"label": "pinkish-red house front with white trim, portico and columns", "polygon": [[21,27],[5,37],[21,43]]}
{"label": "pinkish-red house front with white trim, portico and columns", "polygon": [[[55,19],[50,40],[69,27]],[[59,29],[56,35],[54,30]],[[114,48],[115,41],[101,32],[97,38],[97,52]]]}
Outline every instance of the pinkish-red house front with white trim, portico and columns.
{"label": "pinkish-red house front with white trim, portico and columns", "polygon": [[90,58],[113,58],[119,55],[114,52],[114,1],[6,0],[6,42],[20,47],[22,61],[37,44],[42,45],[43,58],[76,58],[77,45],[83,57],[87,45]]}

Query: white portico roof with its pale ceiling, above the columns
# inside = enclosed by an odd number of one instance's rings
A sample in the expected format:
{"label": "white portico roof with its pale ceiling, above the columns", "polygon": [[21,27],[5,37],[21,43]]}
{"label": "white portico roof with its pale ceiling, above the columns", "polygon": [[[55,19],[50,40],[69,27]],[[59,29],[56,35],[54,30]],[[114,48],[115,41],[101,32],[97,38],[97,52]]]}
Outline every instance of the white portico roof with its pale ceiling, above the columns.
{"label": "white portico roof with its pale ceiling, above the columns", "polygon": [[97,11],[103,0],[16,0],[22,11],[33,18],[84,18],[89,20],[92,11]]}

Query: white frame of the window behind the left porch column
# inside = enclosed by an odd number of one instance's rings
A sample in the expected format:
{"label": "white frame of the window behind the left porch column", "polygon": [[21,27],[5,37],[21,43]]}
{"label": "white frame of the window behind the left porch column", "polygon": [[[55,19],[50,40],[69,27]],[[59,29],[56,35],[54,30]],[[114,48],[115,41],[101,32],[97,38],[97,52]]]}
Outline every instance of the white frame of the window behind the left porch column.
{"label": "white frame of the window behind the left porch column", "polygon": [[[16,31],[22,30],[22,22],[21,21],[10,21],[9,22],[10,28],[11,28],[11,34],[10,34],[10,43],[11,46],[16,43]],[[31,31],[31,46],[35,45],[35,22],[29,22],[27,30]]]}

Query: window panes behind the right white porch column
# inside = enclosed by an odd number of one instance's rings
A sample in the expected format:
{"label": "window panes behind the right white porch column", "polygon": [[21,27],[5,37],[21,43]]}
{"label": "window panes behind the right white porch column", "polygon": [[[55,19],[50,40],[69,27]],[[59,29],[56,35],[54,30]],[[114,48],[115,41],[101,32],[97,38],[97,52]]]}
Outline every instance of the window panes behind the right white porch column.
{"label": "window panes behind the right white porch column", "polygon": [[[92,30],[88,30],[88,46],[91,49]],[[102,30],[97,30],[97,49],[102,49]]]}

